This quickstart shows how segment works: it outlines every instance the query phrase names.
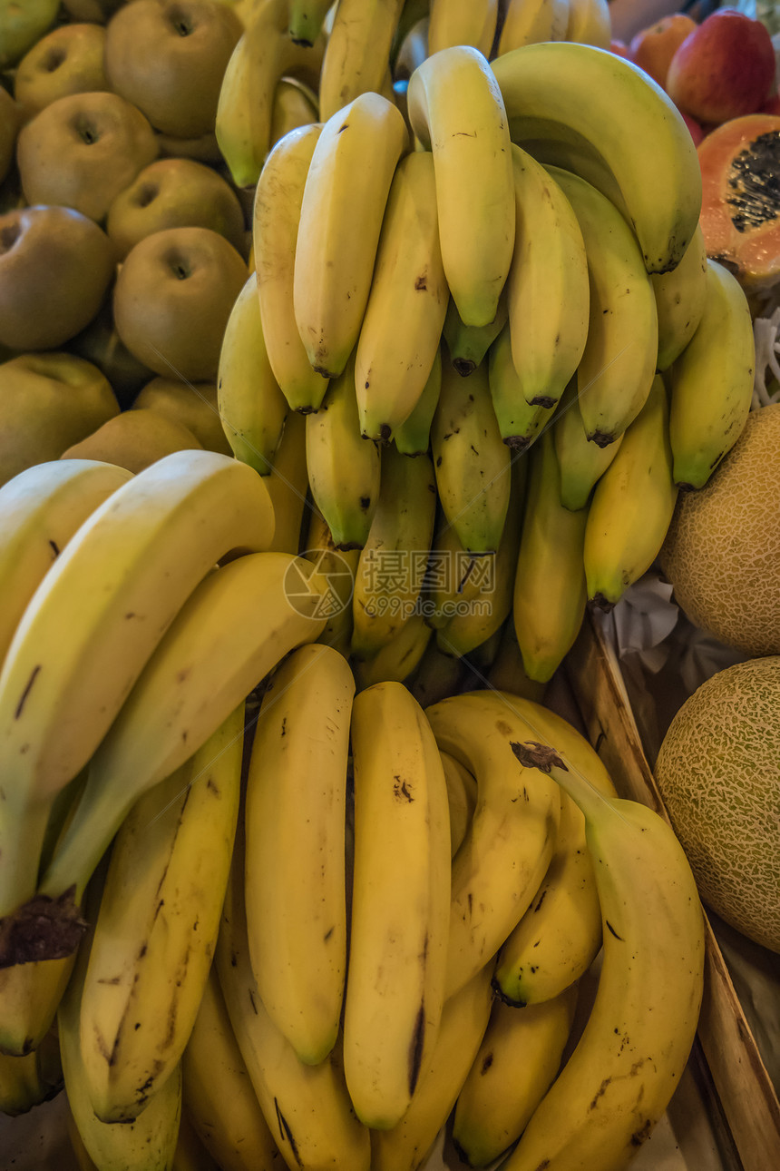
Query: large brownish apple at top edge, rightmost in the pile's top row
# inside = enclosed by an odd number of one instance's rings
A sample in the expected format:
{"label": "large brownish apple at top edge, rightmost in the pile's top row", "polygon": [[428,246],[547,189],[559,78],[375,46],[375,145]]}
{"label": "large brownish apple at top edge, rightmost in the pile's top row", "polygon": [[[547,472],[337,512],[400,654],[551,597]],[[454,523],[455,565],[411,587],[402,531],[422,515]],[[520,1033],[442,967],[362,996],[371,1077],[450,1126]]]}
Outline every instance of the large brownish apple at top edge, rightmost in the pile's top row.
{"label": "large brownish apple at top edge, rightmost in the pile's top row", "polygon": [[133,0],[106,26],[109,83],[156,130],[180,138],[209,133],[242,32],[236,14],[219,0]]}

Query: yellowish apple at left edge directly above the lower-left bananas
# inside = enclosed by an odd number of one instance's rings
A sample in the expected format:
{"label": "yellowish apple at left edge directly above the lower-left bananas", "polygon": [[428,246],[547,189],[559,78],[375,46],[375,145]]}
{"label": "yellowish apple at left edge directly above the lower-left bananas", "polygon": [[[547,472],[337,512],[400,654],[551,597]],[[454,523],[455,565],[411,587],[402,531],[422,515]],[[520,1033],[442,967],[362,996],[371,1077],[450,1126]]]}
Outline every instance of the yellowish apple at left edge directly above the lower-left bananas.
{"label": "yellowish apple at left edge directly above the lower-left bananas", "polygon": [[119,413],[97,367],[73,354],[20,354],[0,365],[0,484]]}

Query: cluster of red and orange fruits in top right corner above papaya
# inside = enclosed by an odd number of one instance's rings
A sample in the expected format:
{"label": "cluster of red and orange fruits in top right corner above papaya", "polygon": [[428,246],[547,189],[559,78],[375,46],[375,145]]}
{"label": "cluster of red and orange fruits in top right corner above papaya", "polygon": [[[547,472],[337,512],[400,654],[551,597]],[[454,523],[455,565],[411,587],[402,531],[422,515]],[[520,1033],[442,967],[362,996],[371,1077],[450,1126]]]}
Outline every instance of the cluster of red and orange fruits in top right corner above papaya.
{"label": "cluster of red and orange fruits in top right corner above papaya", "polygon": [[718,8],[697,25],[682,12],[641,29],[630,43],[613,40],[663,87],[693,141],[747,114],[780,114],[775,53],[765,25],[734,8]]}

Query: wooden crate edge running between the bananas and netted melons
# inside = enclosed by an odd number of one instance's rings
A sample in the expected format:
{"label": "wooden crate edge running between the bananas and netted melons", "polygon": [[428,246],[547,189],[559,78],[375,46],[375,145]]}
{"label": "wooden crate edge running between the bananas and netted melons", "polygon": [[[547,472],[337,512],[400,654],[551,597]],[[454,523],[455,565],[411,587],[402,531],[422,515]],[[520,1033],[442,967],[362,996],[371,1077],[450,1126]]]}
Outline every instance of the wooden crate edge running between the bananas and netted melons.
{"label": "wooden crate edge running between the bananas and netted melons", "polygon": [[[642,749],[615,651],[586,615],[566,674],[591,744],[622,796],[669,820]],[[780,1167],[780,1100],[705,916],[704,999],[698,1046],[744,1171]],[[693,1055],[696,1059],[696,1054]]]}

